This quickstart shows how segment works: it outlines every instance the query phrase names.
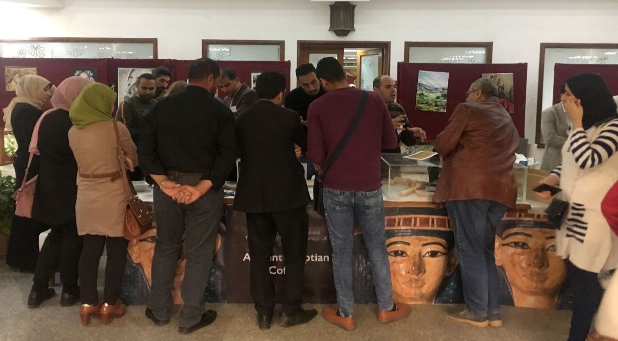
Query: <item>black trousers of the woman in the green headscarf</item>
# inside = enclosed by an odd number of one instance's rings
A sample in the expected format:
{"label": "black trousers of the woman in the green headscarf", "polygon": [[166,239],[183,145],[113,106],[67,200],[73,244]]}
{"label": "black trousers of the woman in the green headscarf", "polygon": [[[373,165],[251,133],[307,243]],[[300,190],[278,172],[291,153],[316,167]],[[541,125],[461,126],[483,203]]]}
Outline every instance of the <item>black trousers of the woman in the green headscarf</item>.
{"label": "black trousers of the woman in the green headscarf", "polygon": [[124,237],[88,234],[83,236],[82,256],[79,259],[80,296],[82,302],[88,305],[99,303],[96,278],[99,271],[99,261],[105,246],[108,251],[108,263],[105,264],[104,303],[115,305],[120,298],[129,241]]}

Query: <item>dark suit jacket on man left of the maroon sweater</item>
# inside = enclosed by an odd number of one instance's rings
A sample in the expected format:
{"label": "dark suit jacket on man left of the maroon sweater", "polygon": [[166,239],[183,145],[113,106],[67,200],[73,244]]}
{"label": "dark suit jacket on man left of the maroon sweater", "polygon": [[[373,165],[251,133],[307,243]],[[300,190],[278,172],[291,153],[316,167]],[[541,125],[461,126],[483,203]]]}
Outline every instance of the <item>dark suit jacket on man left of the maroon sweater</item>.
{"label": "dark suit jacket on man left of the maroon sweater", "polygon": [[287,211],[305,206],[309,192],[294,144],[307,150],[298,112],[259,101],[236,120],[240,176],[234,209],[251,213]]}

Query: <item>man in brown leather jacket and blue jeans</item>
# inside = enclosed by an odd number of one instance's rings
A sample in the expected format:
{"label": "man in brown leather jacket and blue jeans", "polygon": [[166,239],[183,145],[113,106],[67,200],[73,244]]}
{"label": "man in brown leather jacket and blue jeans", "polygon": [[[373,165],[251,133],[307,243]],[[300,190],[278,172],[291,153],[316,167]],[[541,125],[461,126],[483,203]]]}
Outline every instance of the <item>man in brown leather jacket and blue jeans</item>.
{"label": "man in brown leather jacket and blue jeans", "polygon": [[446,201],[455,232],[455,253],[464,282],[465,308],[447,311],[473,326],[502,325],[494,240],[496,224],[515,208],[513,174],[519,135],[488,78],[470,85],[465,103],[436,138],[444,158],[434,201]]}

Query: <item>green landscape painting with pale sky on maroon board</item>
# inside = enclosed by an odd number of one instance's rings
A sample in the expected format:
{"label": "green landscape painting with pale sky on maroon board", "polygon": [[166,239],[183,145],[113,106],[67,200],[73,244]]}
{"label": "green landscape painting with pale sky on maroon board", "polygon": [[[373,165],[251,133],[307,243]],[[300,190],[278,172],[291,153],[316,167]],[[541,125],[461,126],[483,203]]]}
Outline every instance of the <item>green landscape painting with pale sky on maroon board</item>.
{"label": "green landscape painting with pale sky on maroon board", "polygon": [[448,72],[419,71],[417,86],[418,111],[446,112]]}

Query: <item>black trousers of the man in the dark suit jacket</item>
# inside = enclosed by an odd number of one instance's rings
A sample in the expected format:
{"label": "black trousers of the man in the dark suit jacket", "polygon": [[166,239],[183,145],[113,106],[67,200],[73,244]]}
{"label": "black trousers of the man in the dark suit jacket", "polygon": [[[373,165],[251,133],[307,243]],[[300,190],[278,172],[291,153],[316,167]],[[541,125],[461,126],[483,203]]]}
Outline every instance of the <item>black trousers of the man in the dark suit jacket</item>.
{"label": "black trousers of the man in the dark suit jacket", "polygon": [[246,216],[251,257],[251,295],[255,301],[255,309],[260,314],[273,314],[274,283],[269,267],[273,243],[279,232],[286,259],[283,313],[294,313],[302,303],[309,232],[307,209],[302,206],[274,213],[247,213]]}

